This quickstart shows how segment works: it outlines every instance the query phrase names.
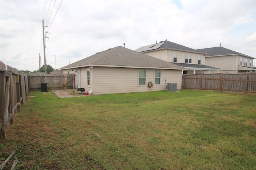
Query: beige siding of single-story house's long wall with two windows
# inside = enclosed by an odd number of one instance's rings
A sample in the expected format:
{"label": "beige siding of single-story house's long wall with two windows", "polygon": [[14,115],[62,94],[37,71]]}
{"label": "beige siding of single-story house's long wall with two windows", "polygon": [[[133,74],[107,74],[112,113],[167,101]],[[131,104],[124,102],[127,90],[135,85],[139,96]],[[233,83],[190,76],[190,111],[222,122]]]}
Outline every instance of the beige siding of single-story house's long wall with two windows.
{"label": "beige siding of single-story house's long wall with two windows", "polygon": [[138,85],[138,68],[93,68],[94,82],[93,94],[113,94],[113,93],[129,93],[129,92],[147,92],[166,90],[164,77],[166,82],[178,83],[181,89],[181,70],[161,70],[161,85],[154,85],[152,90],[148,90],[147,84],[152,81],[154,84],[154,69],[146,70],[146,85]]}

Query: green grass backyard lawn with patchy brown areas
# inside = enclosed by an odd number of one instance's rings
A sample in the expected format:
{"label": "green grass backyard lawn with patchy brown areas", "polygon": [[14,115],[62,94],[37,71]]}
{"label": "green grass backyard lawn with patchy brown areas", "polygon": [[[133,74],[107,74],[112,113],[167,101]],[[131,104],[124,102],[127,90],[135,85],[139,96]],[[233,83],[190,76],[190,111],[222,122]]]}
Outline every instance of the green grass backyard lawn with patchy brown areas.
{"label": "green grass backyard lawn with patchy brown areas", "polygon": [[256,169],[256,95],[200,90],[58,98],[30,92],[5,169]]}

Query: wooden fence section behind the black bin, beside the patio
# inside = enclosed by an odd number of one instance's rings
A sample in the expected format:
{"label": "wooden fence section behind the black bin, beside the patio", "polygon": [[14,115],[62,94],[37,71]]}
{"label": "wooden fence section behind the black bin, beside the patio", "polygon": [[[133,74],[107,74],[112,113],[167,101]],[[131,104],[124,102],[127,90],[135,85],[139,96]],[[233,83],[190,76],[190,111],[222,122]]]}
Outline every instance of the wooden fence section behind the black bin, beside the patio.
{"label": "wooden fence section behind the black bin, beside the patio", "polygon": [[76,74],[28,74],[29,91],[41,90],[41,84],[47,83],[47,90],[75,88]]}

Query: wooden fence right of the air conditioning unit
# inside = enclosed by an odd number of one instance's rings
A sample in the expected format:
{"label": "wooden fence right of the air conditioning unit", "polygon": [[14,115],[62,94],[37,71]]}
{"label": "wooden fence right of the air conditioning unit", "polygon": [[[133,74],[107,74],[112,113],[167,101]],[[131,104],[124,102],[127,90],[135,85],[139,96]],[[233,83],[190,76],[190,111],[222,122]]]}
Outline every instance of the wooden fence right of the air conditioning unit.
{"label": "wooden fence right of the air conditioning unit", "polygon": [[184,88],[256,93],[256,73],[184,75]]}

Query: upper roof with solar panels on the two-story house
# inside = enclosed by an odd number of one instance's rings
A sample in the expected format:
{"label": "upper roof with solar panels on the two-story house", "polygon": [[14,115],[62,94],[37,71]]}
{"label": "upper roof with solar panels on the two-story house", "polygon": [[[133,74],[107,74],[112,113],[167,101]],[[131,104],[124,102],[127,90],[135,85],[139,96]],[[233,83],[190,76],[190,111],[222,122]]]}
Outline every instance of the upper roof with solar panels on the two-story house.
{"label": "upper roof with solar panels on the two-story house", "polygon": [[[156,51],[156,50],[162,50],[162,49],[172,49],[172,50],[178,50],[178,51],[188,51],[188,52],[194,52],[194,53],[202,53],[200,51],[197,51],[195,49],[189,48],[189,47],[185,47],[183,45],[180,44],[176,44],[170,41],[160,41],[159,43],[155,43],[155,44],[150,44],[150,45],[146,45],[143,47],[140,47],[138,49],[136,49],[135,51],[140,52],[140,53],[146,53],[149,51]],[[205,54],[205,53],[203,53]]]}

